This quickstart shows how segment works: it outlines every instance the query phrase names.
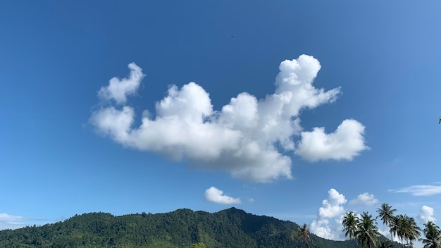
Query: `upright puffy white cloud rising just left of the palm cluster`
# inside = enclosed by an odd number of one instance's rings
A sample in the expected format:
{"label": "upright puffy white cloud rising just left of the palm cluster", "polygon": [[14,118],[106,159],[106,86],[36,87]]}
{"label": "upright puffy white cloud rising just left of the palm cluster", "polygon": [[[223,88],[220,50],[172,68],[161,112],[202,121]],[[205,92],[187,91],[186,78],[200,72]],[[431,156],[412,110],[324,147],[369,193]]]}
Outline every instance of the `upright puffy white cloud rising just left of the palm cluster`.
{"label": "upright puffy white cloud rising just left of the palm cluster", "polygon": [[318,209],[317,218],[311,223],[311,232],[328,240],[342,239],[343,204],[347,203],[346,197],[335,189],[328,191],[328,199],[324,199]]}

